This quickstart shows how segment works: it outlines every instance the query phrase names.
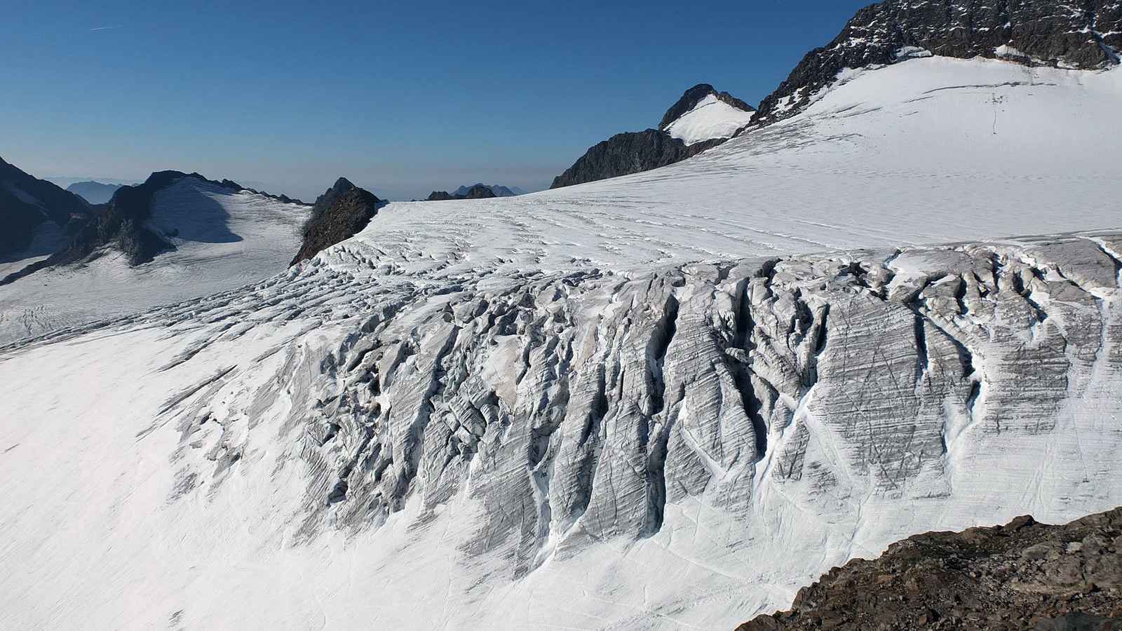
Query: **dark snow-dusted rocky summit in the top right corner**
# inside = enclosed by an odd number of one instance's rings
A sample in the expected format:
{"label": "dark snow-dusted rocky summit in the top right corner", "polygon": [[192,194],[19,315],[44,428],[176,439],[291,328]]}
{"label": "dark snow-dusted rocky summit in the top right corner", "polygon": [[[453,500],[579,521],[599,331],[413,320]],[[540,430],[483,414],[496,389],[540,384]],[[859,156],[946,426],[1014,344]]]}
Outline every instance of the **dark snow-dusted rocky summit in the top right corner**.
{"label": "dark snow-dusted rocky summit in the top right corner", "polygon": [[1119,63],[1122,3],[1115,0],[889,0],[866,7],[833,42],[807,54],[760,104],[766,125],[794,116],[844,68],[892,64],[905,46],[948,57],[996,57],[1003,45],[1030,65],[1096,70]]}

